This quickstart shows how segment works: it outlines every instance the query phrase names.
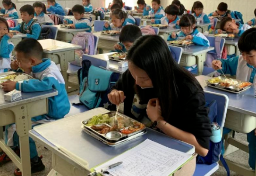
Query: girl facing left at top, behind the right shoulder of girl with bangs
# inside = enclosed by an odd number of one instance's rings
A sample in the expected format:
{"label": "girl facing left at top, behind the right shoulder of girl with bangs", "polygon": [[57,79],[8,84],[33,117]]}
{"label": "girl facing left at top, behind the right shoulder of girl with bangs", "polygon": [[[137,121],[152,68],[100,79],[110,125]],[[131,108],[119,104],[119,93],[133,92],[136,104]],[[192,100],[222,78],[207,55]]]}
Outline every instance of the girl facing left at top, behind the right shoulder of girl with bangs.
{"label": "girl facing left at top, behind the right shoulder of girl with bangs", "polygon": [[[199,18],[200,21],[202,21],[205,24],[211,23],[208,16],[203,12],[204,5],[202,2],[200,2],[200,1],[194,2],[192,10],[193,10],[192,15],[195,16],[196,20]],[[211,27],[211,24],[209,25],[209,29],[210,29],[210,27]]]}

